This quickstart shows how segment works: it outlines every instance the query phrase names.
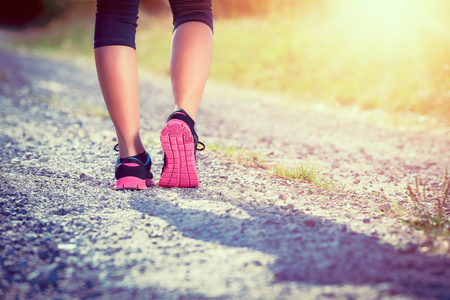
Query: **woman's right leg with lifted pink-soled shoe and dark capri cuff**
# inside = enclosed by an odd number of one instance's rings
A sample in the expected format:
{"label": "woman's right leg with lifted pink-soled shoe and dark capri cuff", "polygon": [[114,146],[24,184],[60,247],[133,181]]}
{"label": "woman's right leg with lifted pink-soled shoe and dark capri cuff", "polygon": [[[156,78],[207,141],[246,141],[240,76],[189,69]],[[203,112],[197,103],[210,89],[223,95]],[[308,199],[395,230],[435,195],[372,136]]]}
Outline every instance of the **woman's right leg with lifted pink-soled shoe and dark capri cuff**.
{"label": "woman's right leg with lifted pink-soled shoe and dark capri cuff", "polygon": [[197,187],[199,141],[194,126],[211,64],[211,0],[170,0],[170,5],[175,28],[170,61],[175,111],[161,130],[164,167],[159,186]]}

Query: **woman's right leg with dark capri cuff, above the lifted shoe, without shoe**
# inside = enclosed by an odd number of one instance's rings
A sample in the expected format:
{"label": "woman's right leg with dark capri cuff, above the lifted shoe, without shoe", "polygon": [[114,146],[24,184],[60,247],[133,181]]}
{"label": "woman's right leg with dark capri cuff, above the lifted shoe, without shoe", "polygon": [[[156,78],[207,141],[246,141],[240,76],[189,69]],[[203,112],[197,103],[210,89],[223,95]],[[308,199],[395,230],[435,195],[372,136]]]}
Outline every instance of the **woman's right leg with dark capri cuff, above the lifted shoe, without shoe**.
{"label": "woman's right leg with dark capri cuff, above the lifted shoe, without shoe", "polygon": [[195,120],[211,64],[213,15],[211,0],[169,0],[174,33],[170,74],[175,109]]}

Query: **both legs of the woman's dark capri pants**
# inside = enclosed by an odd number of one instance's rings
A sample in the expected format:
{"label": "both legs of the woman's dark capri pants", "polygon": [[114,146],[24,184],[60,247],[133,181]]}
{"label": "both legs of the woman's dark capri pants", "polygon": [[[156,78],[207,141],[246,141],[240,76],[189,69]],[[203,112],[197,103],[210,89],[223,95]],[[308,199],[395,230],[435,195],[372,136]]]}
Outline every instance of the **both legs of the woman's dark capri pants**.
{"label": "both legs of the woman's dark capri pants", "polygon": [[[140,0],[97,0],[94,48],[111,45],[136,49]],[[186,22],[202,22],[213,30],[211,0],[169,0],[174,30]]]}

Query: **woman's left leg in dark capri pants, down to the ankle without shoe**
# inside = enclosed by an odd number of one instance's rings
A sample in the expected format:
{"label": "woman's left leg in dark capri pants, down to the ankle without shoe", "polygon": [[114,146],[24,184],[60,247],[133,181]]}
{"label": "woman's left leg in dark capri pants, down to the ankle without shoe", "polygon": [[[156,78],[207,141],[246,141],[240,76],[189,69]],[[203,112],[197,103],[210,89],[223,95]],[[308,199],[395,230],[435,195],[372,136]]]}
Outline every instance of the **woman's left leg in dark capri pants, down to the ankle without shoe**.
{"label": "woman's left leg in dark capri pants, down to the ankle without shoe", "polygon": [[139,137],[135,35],[139,0],[97,0],[94,48],[103,98],[116,129],[119,156],[144,152]]}

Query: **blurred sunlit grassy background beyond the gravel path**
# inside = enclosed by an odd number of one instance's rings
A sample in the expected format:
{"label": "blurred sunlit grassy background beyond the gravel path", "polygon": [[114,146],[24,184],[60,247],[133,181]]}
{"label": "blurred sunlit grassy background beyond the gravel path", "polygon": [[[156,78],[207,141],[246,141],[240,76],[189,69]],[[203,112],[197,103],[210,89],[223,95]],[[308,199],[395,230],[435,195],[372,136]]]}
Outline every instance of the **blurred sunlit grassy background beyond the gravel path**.
{"label": "blurred sunlit grassy background beyond the gravel path", "polygon": [[[10,23],[8,9],[24,11],[12,2],[0,14]],[[13,47],[92,57],[95,1],[41,3],[40,16],[6,24],[28,27]],[[168,75],[170,10],[141,3],[140,67]],[[213,11],[212,81],[450,124],[450,1],[213,0]]]}

